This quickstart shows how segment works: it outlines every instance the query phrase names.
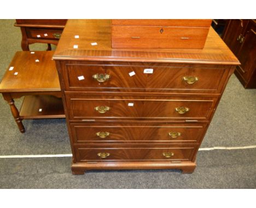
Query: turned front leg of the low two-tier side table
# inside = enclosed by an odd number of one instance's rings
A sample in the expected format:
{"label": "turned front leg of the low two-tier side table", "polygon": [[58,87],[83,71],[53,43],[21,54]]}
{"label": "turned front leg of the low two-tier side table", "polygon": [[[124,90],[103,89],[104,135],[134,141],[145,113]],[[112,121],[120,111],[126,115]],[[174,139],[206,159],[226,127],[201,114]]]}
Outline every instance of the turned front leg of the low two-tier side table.
{"label": "turned front leg of the low two-tier side table", "polygon": [[11,113],[13,114],[13,118],[16,121],[16,124],[18,125],[20,132],[24,133],[25,128],[21,122],[22,119],[20,118],[20,113],[16,108],[16,106],[14,105],[13,97],[11,97],[11,94],[9,93],[3,93],[3,97],[4,97],[4,100],[7,101],[10,106]]}

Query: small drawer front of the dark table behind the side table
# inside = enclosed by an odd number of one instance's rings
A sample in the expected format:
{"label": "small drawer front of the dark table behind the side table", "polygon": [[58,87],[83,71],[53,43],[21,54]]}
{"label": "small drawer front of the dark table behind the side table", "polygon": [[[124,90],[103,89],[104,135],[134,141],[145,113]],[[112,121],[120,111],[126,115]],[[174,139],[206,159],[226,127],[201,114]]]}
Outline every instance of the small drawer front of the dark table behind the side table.
{"label": "small drawer front of the dark table behind the side table", "polygon": [[36,39],[60,39],[62,30],[52,30],[52,29],[28,29],[28,38]]}

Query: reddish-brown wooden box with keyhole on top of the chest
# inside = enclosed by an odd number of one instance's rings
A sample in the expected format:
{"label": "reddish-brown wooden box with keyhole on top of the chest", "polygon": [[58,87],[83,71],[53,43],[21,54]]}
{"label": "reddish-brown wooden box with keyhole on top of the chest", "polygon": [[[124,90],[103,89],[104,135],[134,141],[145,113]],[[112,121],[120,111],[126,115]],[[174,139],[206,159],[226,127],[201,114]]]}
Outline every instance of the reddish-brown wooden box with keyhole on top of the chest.
{"label": "reddish-brown wooden box with keyhole on top of the chest", "polygon": [[212,20],[112,20],[112,48],[201,49]]}

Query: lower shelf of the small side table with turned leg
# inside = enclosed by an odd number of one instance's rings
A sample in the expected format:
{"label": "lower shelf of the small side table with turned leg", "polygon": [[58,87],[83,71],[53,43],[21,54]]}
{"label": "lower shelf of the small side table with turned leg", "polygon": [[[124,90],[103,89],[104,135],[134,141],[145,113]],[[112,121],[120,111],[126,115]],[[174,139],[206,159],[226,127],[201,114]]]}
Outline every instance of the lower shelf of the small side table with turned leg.
{"label": "lower shelf of the small side table with turned leg", "polygon": [[52,95],[25,96],[20,109],[20,118],[65,118],[62,99]]}

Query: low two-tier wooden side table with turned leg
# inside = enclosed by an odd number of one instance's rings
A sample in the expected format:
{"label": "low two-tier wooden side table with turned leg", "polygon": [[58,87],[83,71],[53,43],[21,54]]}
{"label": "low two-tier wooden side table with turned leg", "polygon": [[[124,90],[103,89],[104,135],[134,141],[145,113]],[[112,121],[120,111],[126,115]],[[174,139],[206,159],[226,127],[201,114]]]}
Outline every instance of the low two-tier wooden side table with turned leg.
{"label": "low two-tier wooden side table with turned leg", "polygon": [[[9,103],[22,133],[25,132],[22,119],[65,118],[59,77],[52,56],[52,51],[16,52],[0,83],[0,93]],[[19,112],[14,99],[22,96],[25,99]]]}

